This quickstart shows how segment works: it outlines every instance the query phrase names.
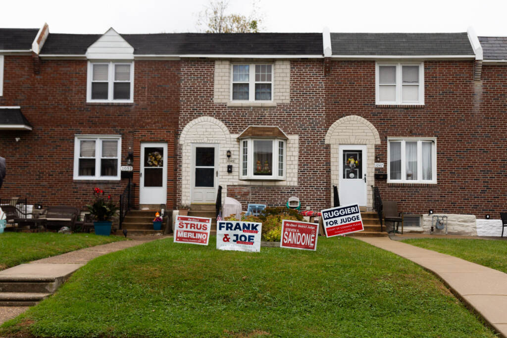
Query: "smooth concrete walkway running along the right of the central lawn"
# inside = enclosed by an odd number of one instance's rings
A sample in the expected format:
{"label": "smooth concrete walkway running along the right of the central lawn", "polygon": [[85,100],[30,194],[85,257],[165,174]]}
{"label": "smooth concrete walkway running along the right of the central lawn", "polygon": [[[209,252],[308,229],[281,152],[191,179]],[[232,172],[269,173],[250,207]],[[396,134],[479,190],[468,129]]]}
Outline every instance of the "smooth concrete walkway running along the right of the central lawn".
{"label": "smooth concrete walkway running along the right of the central lawn", "polygon": [[507,274],[386,237],[357,239],[410,259],[431,271],[498,333],[507,336]]}

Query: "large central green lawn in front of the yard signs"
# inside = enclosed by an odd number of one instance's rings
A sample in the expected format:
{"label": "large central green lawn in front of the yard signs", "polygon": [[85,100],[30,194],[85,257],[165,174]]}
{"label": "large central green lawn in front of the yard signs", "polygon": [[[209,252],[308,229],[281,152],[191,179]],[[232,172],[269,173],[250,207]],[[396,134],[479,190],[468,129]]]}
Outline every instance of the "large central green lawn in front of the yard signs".
{"label": "large central green lawn in front of the yard signs", "polygon": [[259,253],[153,241],[90,261],[0,336],[474,336],[433,275],[353,238]]}

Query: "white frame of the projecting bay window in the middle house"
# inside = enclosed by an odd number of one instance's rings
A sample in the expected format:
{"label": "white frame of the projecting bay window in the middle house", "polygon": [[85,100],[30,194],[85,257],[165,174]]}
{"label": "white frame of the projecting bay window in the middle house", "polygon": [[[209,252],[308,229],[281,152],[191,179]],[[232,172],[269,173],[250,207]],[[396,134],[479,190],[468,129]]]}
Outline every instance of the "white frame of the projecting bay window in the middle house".
{"label": "white frame of the projecting bay window in the middle house", "polygon": [[[247,141],[247,154],[246,154],[246,175],[243,174],[243,141]],[[272,141],[272,168],[271,175],[254,175],[253,174],[253,141]],[[283,175],[278,175],[279,163],[279,143],[283,142]],[[260,138],[260,137],[245,137],[239,141],[239,177],[240,179],[247,180],[285,180],[287,173],[287,140],[282,138]]]}

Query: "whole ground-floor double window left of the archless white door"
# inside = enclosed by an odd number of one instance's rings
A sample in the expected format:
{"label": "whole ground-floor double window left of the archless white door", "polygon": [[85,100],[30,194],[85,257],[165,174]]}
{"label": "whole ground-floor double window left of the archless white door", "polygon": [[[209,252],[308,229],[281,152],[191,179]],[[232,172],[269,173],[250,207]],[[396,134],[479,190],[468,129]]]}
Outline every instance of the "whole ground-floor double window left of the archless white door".
{"label": "whole ground-floor double window left of the archless white door", "polygon": [[120,179],[120,153],[120,136],[76,136],[74,179]]}

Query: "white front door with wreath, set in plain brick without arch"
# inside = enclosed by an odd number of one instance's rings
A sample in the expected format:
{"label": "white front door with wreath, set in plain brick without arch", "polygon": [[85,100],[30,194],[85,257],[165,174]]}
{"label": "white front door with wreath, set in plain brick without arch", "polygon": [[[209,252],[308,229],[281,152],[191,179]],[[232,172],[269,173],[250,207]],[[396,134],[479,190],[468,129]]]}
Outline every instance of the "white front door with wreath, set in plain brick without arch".
{"label": "white front door with wreath, set in plain brick without arch", "polygon": [[167,202],[167,143],[141,143],[139,204]]}

